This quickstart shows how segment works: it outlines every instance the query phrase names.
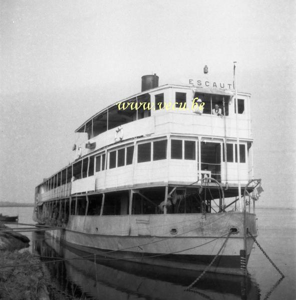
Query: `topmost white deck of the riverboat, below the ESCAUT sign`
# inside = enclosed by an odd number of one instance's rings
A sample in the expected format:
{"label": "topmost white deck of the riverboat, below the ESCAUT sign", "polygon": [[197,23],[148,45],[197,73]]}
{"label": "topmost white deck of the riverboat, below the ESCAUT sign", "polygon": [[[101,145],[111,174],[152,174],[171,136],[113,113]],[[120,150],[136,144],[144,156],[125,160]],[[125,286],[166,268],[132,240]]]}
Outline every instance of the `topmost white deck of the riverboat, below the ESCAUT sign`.
{"label": "topmost white deck of the riverboat, below the ESCAUT sign", "polygon": [[[252,140],[251,95],[237,95],[238,113],[233,90],[166,84],[132,95],[94,114],[75,130],[85,132],[85,139],[76,147],[77,158],[118,141],[148,135],[176,133],[236,139],[238,132],[240,139]],[[194,104],[197,100],[193,101],[197,97],[205,103],[202,113]],[[215,104],[223,116],[213,114]]]}

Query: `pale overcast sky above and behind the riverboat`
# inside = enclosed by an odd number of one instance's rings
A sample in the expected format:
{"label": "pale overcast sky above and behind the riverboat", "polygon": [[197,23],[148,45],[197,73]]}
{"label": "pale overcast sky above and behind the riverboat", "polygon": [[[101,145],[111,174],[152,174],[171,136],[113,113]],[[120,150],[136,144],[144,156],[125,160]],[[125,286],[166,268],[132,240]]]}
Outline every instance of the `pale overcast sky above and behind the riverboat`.
{"label": "pale overcast sky above and behind the riverboat", "polygon": [[252,93],[259,205],[296,206],[296,1],[0,0],[0,200],[72,159],[74,130],[111,102],[209,76]]}

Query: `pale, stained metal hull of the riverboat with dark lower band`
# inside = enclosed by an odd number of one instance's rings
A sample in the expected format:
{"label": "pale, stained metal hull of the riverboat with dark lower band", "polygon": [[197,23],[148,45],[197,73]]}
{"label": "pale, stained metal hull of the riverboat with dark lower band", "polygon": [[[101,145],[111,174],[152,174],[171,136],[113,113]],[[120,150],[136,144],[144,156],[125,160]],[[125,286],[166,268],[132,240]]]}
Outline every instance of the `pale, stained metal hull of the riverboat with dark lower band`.
{"label": "pale, stained metal hull of the riverboat with dark lower band", "polygon": [[[246,213],[245,223],[256,236],[255,214]],[[237,232],[227,237],[232,230]],[[95,254],[98,261],[121,259],[204,270],[219,252],[208,271],[243,275],[253,246],[253,239],[245,239],[243,232],[244,213],[230,212],[70,216],[65,229],[48,233],[85,255]]]}

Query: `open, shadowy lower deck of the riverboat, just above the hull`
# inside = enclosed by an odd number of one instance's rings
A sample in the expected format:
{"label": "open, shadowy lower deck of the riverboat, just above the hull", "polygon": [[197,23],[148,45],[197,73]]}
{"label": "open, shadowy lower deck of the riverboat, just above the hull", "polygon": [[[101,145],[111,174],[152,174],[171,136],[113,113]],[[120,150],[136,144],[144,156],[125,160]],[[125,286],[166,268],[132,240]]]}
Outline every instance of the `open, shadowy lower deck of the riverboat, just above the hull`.
{"label": "open, shadowy lower deck of the riverboat, just above the hull", "polygon": [[[247,197],[244,198],[244,193]],[[192,214],[255,210],[255,186],[242,185],[238,197],[236,184],[221,184],[215,179],[190,185],[134,186],[104,192],[77,193],[35,202],[34,219],[40,223],[66,226],[70,217]],[[253,201],[253,205],[251,205]]]}

